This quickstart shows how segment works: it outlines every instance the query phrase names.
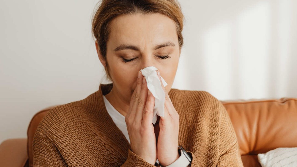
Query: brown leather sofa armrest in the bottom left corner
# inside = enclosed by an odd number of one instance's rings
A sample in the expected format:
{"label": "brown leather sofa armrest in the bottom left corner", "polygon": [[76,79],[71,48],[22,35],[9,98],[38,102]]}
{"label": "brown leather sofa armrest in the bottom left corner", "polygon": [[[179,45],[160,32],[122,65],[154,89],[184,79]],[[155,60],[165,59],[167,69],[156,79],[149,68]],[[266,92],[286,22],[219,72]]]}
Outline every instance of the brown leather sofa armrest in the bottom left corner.
{"label": "brown leather sofa armrest in the bottom left corner", "polygon": [[27,139],[7,139],[0,144],[0,166],[24,167],[28,161]]}

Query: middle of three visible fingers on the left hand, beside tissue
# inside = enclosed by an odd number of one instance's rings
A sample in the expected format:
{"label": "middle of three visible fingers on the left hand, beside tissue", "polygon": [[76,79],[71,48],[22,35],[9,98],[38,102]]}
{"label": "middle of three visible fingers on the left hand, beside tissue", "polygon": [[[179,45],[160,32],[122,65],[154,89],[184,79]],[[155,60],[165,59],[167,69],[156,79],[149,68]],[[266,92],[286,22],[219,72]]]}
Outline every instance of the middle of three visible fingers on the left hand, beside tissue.
{"label": "middle of three visible fingers on the left hand, beside tissue", "polygon": [[134,119],[135,121],[140,122],[142,120],[143,109],[145,108],[147,96],[148,96],[148,87],[147,87],[145,77],[143,77],[140,95],[136,103],[137,107],[136,107],[136,113],[135,113],[135,119]]}

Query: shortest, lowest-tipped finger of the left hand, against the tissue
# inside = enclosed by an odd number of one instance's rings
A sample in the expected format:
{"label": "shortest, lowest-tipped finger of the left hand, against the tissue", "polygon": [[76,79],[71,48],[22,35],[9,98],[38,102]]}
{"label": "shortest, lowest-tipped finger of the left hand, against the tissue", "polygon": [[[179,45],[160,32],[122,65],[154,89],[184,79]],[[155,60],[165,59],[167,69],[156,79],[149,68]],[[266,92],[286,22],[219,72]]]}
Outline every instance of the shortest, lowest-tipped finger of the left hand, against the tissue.
{"label": "shortest, lowest-tipped finger of the left hand, against the tissue", "polygon": [[153,111],[154,111],[154,103],[155,97],[148,90],[148,98],[145,103],[145,108],[143,109],[142,114],[142,126],[149,127],[152,125]]}

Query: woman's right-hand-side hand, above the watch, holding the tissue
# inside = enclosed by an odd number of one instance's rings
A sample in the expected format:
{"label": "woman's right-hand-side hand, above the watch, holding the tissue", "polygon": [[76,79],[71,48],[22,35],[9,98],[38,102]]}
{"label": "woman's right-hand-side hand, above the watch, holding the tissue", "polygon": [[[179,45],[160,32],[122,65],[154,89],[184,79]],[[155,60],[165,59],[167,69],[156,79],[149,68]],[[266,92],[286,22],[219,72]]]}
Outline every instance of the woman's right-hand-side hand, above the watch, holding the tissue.
{"label": "woman's right-hand-side hand, above the watch, holding the tissue", "polygon": [[[160,73],[158,77],[161,81]],[[159,121],[160,131],[157,140],[157,158],[162,166],[167,166],[179,158],[179,114],[175,110],[162,81],[161,85],[165,92],[165,106],[164,117],[160,117]]]}

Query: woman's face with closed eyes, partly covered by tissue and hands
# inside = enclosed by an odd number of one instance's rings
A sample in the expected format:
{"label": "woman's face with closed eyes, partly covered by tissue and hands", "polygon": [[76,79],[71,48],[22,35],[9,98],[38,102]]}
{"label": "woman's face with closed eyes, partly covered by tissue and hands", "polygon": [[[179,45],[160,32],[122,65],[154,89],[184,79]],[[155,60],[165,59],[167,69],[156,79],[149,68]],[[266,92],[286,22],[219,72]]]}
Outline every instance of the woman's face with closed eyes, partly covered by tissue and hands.
{"label": "woman's face with closed eyes, partly covered by tissue and hands", "polygon": [[[180,56],[175,22],[169,17],[154,13],[119,16],[110,25],[106,58],[113,80],[112,90],[130,102],[136,87],[137,72],[145,67],[155,66],[167,82],[165,88],[169,92]],[[105,66],[97,43],[96,48],[100,61]],[[168,57],[164,57],[167,55]],[[131,59],[133,60],[129,61]]]}

